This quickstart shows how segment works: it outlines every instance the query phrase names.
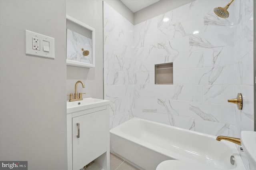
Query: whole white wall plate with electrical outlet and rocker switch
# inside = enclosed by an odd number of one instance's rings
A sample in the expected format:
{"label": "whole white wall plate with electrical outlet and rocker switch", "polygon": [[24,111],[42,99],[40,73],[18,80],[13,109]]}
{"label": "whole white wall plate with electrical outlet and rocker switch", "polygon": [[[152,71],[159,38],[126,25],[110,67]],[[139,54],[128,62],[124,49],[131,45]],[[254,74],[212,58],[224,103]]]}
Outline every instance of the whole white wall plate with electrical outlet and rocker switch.
{"label": "whole white wall plate with electrical outlet and rocker switch", "polygon": [[26,30],[26,54],[54,59],[54,38]]}

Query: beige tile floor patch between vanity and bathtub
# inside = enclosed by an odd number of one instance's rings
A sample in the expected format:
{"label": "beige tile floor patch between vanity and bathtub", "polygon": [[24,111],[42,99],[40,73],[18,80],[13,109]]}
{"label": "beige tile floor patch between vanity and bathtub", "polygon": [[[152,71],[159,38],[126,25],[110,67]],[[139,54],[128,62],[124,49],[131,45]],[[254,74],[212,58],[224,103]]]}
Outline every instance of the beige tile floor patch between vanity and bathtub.
{"label": "beige tile floor patch between vanity and bathtub", "polygon": [[139,170],[118,156],[110,153],[110,170]]}

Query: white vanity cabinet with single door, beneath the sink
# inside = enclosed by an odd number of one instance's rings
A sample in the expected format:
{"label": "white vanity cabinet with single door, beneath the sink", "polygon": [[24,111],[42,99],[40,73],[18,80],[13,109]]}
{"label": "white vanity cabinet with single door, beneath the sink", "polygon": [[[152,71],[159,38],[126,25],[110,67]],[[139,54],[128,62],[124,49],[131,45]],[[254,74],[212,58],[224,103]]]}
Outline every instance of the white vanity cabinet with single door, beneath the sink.
{"label": "white vanity cabinet with single door, beneath the sink", "polygon": [[82,109],[67,114],[68,170],[80,170],[92,161],[109,170],[108,105]]}

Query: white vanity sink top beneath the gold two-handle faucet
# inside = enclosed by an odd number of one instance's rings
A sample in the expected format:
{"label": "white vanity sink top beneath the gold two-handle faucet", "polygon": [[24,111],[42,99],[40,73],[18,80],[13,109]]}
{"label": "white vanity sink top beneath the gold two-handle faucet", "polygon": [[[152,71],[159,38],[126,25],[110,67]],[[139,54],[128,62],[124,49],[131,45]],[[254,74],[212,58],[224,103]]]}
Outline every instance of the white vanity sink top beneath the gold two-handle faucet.
{"label": "white vanity sink top beneath the gold two-handle faucet", "polygon": [[85,98],[80,101],[67,101],[67,113],[82,111],[85,109],[91,109],[94,107],[100,107],[104,105],[108,105],[108,100],[103,99],[94,99],[94,98]]}

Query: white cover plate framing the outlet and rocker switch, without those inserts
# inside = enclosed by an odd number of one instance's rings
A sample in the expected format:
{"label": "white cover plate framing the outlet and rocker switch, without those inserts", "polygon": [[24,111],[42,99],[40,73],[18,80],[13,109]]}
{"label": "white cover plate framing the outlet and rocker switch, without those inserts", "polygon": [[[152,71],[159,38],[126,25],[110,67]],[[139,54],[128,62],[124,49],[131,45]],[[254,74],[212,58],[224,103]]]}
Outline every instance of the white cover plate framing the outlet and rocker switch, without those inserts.
{"label": "white cover plate framing the outlet and rocker switch, without those inserts", "polygon": [[[39,50],[33,49],[33,38],[38,38]],[[43,41],[50,43],[49,52],[43,50]],[[26,30],[26,54],[54,59],[54,38]]]}

